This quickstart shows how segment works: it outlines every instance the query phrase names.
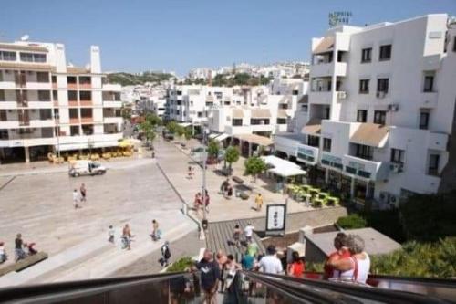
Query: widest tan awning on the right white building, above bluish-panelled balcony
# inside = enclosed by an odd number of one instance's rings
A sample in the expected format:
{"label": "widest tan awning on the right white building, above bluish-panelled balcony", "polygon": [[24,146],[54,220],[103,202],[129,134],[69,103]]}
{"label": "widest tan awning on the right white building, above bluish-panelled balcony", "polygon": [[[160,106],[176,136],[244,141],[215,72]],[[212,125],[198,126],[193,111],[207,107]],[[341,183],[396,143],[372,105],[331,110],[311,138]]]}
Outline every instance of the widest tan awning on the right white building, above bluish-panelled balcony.
{"label": "widest tan awning on the right white building, above bluish-panelled balcony", "polygon": [[361,123],[350,142],[382,148],[388,140],[389,127],[377,123]]}

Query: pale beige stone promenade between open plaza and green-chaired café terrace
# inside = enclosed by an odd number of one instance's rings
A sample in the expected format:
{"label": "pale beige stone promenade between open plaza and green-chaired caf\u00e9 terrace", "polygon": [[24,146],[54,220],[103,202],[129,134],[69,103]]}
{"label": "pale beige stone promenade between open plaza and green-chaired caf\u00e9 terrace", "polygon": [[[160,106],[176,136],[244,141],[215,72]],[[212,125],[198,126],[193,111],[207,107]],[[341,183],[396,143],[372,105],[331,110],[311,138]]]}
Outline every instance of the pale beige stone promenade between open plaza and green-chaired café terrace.
{"label": "pale beige stone promenade between open plaza and green-chaired caf\u00e9 terrace", "polygon": [[[161,168],[185,202],[192,206],[194,195],[197,192],[201,192],[202,189],[202,168],[195,162],[198,160],[191,158],[190,148],[201,146],[201,144],[196,141],[190,141],[188,142],[189,148],[182,149],[178,144],[161,140],[155,142],[154,145],[157,161],[160,163]],[[187,168],[190,164],[195,169],[195,176],[192,179],[187,178]],[[230,200],[225,199],[223,195],[219,194],[219,189],[226,177],[215,173],[217,169],[221,168],[222,164],[211,165],[208,166],[206,171],[206,188],[211,196],[210,212],[207,215],[210,222],[265,216],[266,204],[285,204],[286,196],[272,192],[270,186],[264,183],[261,178],[258,178],[257,182],[253,183],[251,177],[243,177],[243,159],[233,165],[233,175],[242,177],[245,181],[244,183],[253,188],[253,194],[246,201],[239,197],[232,197]],[[231,183],[234,185],[233,181]],[[258,192],[264,197],[264,207],[260,212],[254,210],[254,196]],[[289,214],[308,210],[313,210],[313,208],[297,203],[293,199],[288,199],[287,212]],[[202,217],[201,213],[198,215],[200,218]]]}

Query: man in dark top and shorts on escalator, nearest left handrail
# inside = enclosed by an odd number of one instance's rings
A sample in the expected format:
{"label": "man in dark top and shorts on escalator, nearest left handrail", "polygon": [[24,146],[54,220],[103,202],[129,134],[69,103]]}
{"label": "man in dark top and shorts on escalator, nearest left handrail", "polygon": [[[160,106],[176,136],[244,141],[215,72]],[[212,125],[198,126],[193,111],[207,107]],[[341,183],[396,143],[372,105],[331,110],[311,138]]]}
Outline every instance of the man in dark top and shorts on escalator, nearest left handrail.
{"label": "man in dark top and shorts on escalator, nearest left handrail", "polygon": [[202,260],[196,264],[196,268],[201,271],[201,286],[205,294],[205,303],[217,303],[220,268],[218,263],[213,259],[210,250],[206,249],[204,251]]}

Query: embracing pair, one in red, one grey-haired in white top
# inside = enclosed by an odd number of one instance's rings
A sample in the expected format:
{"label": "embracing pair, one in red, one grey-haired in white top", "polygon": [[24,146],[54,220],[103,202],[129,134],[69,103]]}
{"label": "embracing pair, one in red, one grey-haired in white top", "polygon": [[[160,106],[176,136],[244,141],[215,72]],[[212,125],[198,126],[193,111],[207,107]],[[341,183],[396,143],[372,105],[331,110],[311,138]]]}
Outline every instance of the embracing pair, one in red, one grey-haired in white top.
{"label": "embracing pair, one in red, one grey-haired in white top", "polygon": [[364,250],[361,236],[338,233],[334,239],[336,251],[327,257],[325,278],[366,284],[370,269],[370,258]]}

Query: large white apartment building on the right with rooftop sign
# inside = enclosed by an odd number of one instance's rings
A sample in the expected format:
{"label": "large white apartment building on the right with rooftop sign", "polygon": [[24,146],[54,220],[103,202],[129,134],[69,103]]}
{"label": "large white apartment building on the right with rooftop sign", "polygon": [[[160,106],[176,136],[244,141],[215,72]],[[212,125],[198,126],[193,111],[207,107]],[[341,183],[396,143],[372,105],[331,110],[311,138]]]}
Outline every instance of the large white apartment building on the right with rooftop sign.
{"label": "large white apartment building on the right with rooftop sign", "polygon": [[455,121],[456,26],[448,20],[337,26],[312,39],[310,92],[298,114],[305,126],[277,136],[275,150],[359,204],[389,207],[438,192]]}

